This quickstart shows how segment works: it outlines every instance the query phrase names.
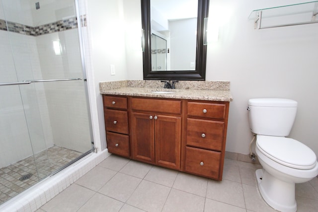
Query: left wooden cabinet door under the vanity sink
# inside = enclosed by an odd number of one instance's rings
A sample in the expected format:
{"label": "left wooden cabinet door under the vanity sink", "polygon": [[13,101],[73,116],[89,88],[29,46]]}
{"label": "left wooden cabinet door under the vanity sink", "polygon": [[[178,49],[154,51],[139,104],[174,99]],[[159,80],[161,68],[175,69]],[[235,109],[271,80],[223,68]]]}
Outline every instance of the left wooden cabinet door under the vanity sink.
{"label": "left wooden cabinet door under the vanity sink", "polygon": [[132,113],[132,158],[155,163],[155,122],[153,114]]}

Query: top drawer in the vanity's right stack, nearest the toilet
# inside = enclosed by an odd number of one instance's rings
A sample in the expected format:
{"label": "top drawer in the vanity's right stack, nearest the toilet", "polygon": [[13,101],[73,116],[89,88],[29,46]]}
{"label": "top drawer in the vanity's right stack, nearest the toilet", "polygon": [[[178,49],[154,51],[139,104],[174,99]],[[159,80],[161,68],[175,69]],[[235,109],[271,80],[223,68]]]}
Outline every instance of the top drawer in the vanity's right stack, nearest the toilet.
{"label": "top drawer in the vanity's right stack, nearest the toilet", "polygon": [[188,102],[188,116],[225,119],[226,104]]}

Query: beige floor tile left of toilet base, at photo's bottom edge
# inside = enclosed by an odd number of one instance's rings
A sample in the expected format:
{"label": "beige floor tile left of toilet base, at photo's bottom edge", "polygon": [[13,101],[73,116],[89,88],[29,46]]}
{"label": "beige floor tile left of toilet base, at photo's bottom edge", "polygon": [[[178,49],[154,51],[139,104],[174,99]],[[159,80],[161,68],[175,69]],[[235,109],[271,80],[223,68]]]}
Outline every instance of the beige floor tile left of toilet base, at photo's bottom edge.
{"label": "beige floor tile left of toilet base, at photo's bottom edge", "polygon": [[275,212],[267,203],[263,200],[260,193],[257,190],[257,187],[245,185],[243,186],[244,198],[246,209],[255,211],[255,212]]}

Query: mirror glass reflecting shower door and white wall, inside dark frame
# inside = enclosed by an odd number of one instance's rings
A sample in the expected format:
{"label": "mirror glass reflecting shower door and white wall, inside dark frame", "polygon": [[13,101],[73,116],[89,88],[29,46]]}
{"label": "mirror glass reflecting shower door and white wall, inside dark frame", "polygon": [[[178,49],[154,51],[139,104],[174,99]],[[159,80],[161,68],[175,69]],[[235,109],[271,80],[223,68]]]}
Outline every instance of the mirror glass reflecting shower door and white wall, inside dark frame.
{"label": "mirror glass reflecting shower door and white wall, inside dark frame", "polygon": [[151,0],[152,71],[195,71],[198,0]]}

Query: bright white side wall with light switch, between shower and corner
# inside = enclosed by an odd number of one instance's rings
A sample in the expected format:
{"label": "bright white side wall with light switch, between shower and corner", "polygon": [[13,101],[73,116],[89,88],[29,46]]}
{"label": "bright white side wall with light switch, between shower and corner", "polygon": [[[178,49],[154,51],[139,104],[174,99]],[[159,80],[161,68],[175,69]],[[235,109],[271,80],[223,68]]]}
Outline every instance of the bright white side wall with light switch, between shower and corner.
{"label": "bright white side wall with light switch, between shower and corner", "polygon": [[[100,143],[97,146],[103,149],[106,147],[106,135],[103,101],[102,96],[99,94],[99,82],[124,80],[127,79],[128,74],[124,5],[123,0],[86,0],[85,3],[89,28],[89,38],[86,37],[86,40],[90,40],[90,44],[86,44],[91,47],[90,52],[88,52],[90,57],[89,68],[93,72],[91,79],[94,80],[94,83],[91,84],[95,86],[96,93],[96,108],[93,108],[93,110],[96,110],[98,114],[98,120],[93,121],[96,124],[94,127],[98,127],[100,133],[100,138],[98,138]],[[111,75],[110,65],[115,66],[115,75]]]}

